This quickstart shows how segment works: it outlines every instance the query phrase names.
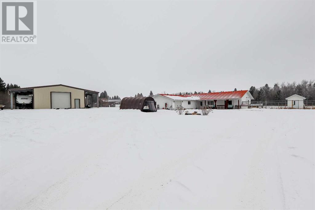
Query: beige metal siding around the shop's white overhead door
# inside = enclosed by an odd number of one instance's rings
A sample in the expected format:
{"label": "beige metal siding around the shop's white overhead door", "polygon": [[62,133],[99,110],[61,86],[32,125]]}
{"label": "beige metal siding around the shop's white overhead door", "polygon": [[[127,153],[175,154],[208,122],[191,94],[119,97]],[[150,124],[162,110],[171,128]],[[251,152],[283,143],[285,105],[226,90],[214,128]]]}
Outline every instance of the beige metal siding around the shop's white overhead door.
{"label": "beige metal siding around the shop's white overhead door", "polygon": [[34,88],[34,108],[50,109],[50,92],[70,92],[71,108],[74,108],[74,99],[80,99],[80,108],[84,108],[84,90],[64,86]]}

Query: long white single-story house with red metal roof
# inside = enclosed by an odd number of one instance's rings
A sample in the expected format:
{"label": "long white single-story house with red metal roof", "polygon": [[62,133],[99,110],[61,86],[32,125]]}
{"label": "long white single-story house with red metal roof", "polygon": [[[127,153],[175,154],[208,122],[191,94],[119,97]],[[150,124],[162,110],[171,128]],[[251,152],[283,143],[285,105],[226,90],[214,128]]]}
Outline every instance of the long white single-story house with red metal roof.
{"label": "long white single-story house with red metal roof", "polygon": [[253,96],[248,90],[237,90],[215,93],[200,93],[191,95],[157,94],[153,96],[157,109],[176,110],[182,106],[185,109],[217,108],[237,109],[248,108]]}

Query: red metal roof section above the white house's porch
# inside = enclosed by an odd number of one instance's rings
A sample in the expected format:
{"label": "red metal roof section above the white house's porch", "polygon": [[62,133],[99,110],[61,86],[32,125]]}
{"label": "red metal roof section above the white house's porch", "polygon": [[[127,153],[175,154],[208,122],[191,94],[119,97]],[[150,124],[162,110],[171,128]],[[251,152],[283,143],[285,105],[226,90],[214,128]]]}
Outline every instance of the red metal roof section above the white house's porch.
{"label": "red metal roof section above the white house's porch", "polygon": [[222,100],[222,99],[237,99],[242,98],[248,90],[237,90],[228,92],[217,93],[200,93],[192,94],[192,96],[198,96],[200,100]]}

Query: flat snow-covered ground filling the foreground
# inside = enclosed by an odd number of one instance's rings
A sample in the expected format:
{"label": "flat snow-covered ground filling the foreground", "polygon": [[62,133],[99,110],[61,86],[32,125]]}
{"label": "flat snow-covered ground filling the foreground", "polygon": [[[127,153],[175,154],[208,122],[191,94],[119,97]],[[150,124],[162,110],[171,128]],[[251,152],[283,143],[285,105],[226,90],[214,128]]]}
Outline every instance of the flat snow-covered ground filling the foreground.
{"label": "flat snow-covered ground filling the foreground", "polygon": [[1,209],[314,209],[315,110],[0,111]]}

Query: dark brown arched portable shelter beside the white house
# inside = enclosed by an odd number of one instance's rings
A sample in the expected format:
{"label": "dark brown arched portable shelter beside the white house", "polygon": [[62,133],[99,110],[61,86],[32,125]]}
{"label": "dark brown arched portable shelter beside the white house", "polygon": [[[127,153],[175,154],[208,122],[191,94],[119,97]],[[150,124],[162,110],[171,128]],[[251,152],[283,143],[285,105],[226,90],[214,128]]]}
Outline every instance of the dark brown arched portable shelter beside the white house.
{"label": "dark brown arched portable shelter beside the white house", "polygon": [[140,109],[141,112],[143,110],[145,104],[148,105],[149,110],[148,112],[156,112],[157,108],[155,106],[155,101],[152,97],[125,97],[121,101],[120,109]]}

